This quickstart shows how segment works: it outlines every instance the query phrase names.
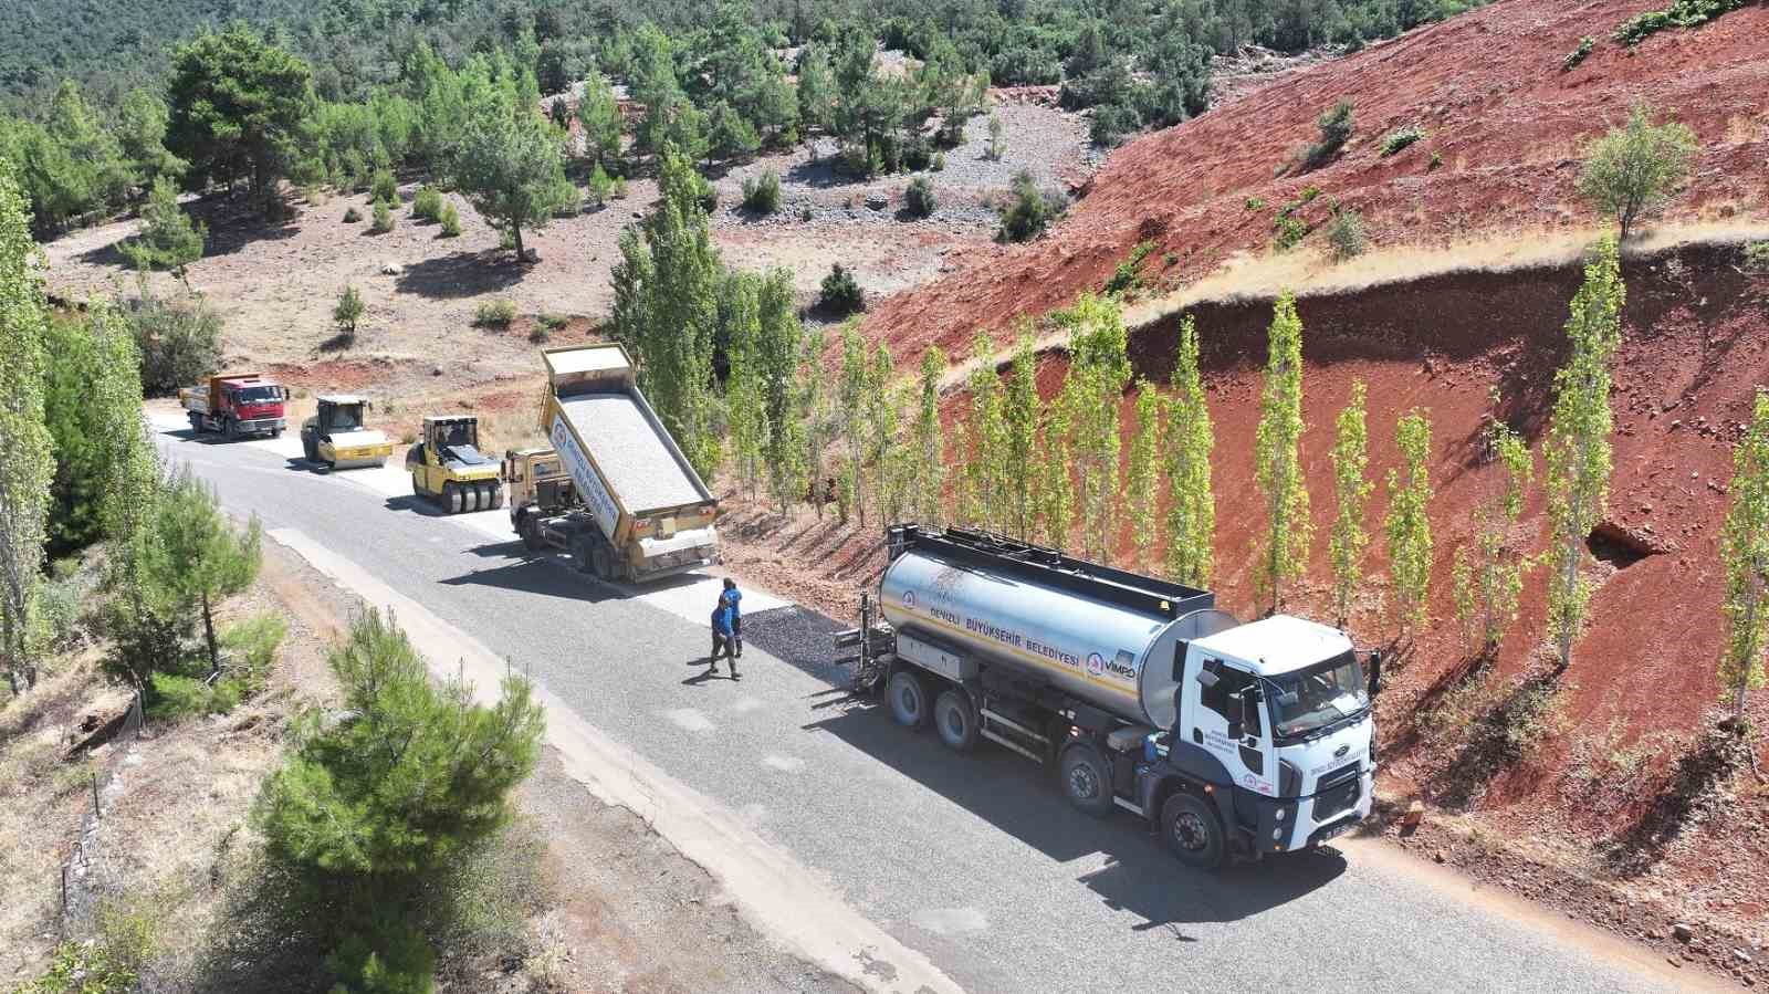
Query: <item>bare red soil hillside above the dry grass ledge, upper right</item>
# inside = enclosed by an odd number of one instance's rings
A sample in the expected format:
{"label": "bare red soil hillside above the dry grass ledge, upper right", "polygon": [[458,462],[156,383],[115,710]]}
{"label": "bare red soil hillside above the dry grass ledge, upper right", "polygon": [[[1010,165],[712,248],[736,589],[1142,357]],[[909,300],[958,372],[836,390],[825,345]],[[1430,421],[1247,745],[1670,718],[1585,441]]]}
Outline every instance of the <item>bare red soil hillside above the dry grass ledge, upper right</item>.
{"label": "bare red soil hillside above the dry grass ledge, upper right", "polygon": [[[1267,251],[1274,210],[1311,186],[1323,196],[1302,209],[1304,219],[1321,225],[1336,198],[1362,212],[1376,246],[1592,225],[1574,193],[1580,145],[1635,101],[1675,115],[1702,141],[1673,216],[1760,209],[1769,5],[1661,32],[1631,51],[1608,41],[1615,25],[1659,5],[1505,0],[1288,76],[1118,150],[1051,237],[966,255],[948,278],[884,301],[865,331],[911,361],[927,343],[962,354],[975,327],[999,329],[1097,290],[1141,239],[1159,244],[1145,272],[1192,281],[1237,253]],[[1564,73],[1583,35],[1599,39],[1596,50]],[[1344,152],[1311,173],[1274,177],[1318,138],[1316,115],[1339,99],[1353,101],[1357,119]],[[1382,138],[1408,124],[1426,138],[1383,157]],[[1249,198],[1263,205],[1249,209]]]}

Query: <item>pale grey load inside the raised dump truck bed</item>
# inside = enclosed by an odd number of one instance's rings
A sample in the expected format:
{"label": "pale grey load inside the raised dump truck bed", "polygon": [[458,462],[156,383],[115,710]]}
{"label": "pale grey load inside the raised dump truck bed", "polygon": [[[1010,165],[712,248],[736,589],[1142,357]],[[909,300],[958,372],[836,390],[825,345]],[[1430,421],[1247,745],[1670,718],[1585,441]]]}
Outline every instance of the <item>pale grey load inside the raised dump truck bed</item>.
{"label": "pale grey load inside the raised dump truck bed", "polygon": [[639,515],[706,501],[706,493],[683,472],[646,412],[623,393],[586,393],[561,400],[589,455],[601,467],[609,486]]}

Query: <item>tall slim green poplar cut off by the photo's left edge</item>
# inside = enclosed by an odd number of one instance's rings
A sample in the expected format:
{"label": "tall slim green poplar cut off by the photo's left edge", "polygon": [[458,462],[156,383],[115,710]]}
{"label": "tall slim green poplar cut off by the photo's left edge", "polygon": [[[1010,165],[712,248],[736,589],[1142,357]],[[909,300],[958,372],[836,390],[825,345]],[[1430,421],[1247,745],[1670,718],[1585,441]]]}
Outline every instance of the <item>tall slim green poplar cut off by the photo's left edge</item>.
{"label": "tall slim green poplar cut off by the photo's left edge", "polygon": [[37,683],[30,633],[55,479],[42,417],[41,260],[30,239],[30,207],[0,159],[0,665],[12,693]]}

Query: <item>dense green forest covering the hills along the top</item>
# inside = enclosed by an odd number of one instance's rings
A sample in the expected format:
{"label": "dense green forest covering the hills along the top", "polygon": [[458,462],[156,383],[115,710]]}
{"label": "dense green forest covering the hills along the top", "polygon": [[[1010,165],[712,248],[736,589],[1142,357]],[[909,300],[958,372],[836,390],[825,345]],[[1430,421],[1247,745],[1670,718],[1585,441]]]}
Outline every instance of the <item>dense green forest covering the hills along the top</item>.
{"label": "dense green forest covering the hills along the top", "polygon": [[[249,187],[274,210],[283,180],[363,189],[416,170],[476,177],[481,214],[520,246],[524,226],[580,202],[561,159],[578,159],[598,200],[665,143],[715,166],[821,133],[849,175],[922,170],[987,87],[1022,83],[1060,83],[1111,145],[1201,113],[1212,53],[1357,46],[1481,2],[11,0],[0,159],[42,233],[140,202],[161,177]],[[881,69],[879,48],[907,53],[907,71]],[[552,134],[522,120],[532,110],[494,115],[495,134],[471,127],[486,94],[534,108],[577,83],[578,141],[563,106]]]}

